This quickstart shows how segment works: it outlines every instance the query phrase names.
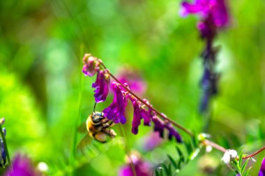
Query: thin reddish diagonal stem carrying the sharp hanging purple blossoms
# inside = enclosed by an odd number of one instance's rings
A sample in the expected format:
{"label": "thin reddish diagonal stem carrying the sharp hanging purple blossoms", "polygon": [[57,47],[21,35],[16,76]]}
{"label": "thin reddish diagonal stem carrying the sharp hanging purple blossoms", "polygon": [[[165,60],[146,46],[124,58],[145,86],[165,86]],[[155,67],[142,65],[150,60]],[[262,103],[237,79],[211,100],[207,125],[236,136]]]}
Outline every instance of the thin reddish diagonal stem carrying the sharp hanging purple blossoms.
{"label": "thin reddish diagonal stem carrying the sharp hanging purple blossoms", "polygon": [[[102,65],[105,68],[105,70],[107,70],[107,67],[104,65],[104,63],[100,59],[98,59],[98,61],[100,62],[100,65]],[[172,125],[174,125],[175,127],[181,129],[186,134],[188,134],[190,136],[194,136],[194,134],[192,134],[191,131],[189,131],[188,129],[185,129],[185,127],[183,127],[183,126],[179,125],[178,123],[174,122],[173,120],[167,118],[166,115],[164,115],[163,113],[158,112],[150,104],[147,104],[146,102],[144,102],[144,100],[142,100],[140,97],[135,95],[135,93],[132,93],[132,91],[130,89],[128,89],[126,86],[124,86],[123,83],[121,83],[119,81],[119,79],[116,79],[116,77],[114,77],[114,75],[111,72],[109,72],[109,70],[107,70],[107,72],[108,72],[109,76],[112,77],[115,81],[117,81],[117,83],[121,84],[121,86],[123,86],[123,88],[125,88],[128,91],[128,93],[130,93],[135,98],[137,98],[139,100],[139,102],[142,102],[142,104],[144,104],[145,106],[149,107],[149,109],[151,109],[152,111],[156,112],[162,119],[167,120],[168,122],[172,123]]]}

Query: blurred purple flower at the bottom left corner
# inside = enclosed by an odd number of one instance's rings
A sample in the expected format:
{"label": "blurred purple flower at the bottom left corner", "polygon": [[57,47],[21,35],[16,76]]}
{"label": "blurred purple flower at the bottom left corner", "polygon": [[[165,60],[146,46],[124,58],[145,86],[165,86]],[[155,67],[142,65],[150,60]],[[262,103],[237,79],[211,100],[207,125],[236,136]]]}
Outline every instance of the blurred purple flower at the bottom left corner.
{"label": "blurred purple flower at the bottom left corner", "polygon": [[28,157],[17,154],[10,166],[3,176],[36,176],[38,175],[34,170],[31,161]]}

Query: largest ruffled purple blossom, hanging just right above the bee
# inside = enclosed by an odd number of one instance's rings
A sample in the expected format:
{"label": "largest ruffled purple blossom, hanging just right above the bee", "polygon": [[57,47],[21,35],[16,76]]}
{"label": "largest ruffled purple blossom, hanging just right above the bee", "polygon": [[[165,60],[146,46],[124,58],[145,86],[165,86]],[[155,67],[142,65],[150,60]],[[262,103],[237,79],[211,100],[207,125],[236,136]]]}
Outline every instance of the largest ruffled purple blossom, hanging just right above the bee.
{"label": "largest ruffled purple blossom, hanging just right above the bee", "polygon": [[[126,84],[123,85],[128,86]],[[113,102],[103,110],[103,113],[109,120],[113,120],[115,123],[121,122],[124,124],[126,122],[124,112],[128,102],[128,93],[125,88],[116,82],[112,82],[112,90],[114,92]]]}

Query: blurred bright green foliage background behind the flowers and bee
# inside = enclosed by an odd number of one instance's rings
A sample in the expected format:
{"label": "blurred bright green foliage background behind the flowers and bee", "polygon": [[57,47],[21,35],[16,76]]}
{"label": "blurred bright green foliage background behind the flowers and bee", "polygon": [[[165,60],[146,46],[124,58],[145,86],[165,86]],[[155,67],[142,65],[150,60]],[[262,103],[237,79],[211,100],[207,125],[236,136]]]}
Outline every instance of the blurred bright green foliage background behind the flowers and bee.
{"label": "blurred bright green foliage background behind the flowers and bee", "polygon": [[[11,157],[27,154],[44,161],[47,175],[117,175],[125,163],[119,127],[115,141],[95,143],[92,152],[76,154],[79,123],[93,111],[96,77],[82,74],[82,56],[102,58],[112,73],[130,65],[140,70],[149,99],[158,111],[195,132],[202,131],[198,114],[199,79],[204,43],[196,29],[198,17],[179,17],[179,0],[0,1],[0,116],[6,118]],[[217,70],[220,93],[211,102],[208,133],[225,147],[252,152],[264,145],[265,1],[229,1],[231,22],[220,31]],[[97,106],[103,110],[112,102]],[[123,127],[131,150],[153,164],[173,154],[173,142],[142,152],[140,139],[152,131],[130,133],[132,108]],[[118,125],[116,125],[118,126]],[[183,134],[181,132],[181,134]],[[185,134],[183,134],[185,138]],[[173,154],[174,155],[174,154]],[[213,151],[185,166],[179,175],[232,175]],[[204,158],[218,166],[202,169]],[[264,152],[252,163],[257,175]]]}

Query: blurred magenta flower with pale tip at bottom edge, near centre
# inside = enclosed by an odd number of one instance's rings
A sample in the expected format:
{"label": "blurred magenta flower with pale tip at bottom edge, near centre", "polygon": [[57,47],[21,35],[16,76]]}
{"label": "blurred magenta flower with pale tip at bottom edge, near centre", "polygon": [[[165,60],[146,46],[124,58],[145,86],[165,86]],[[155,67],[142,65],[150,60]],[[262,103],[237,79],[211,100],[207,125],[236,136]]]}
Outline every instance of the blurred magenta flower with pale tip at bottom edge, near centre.
{"label": "blurred magenta flower with pale tip at bottom edge, near centre", "polygon": [[[151,166],[148,162],[139,157],[139,154],[131,154],[133,167],[137,176],[151,176]],[[119,176],[133,176],[129,161],[119,170]]]}

